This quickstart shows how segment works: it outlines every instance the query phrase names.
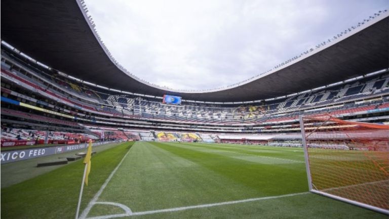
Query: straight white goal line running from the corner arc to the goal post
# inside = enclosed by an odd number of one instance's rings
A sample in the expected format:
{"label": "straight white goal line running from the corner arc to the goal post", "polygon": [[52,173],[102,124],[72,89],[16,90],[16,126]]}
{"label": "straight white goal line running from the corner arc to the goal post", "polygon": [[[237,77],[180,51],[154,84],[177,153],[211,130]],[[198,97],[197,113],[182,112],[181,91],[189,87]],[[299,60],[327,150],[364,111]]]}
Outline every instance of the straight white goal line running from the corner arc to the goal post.
{"label": "straight white goal line running from the corner arc to the goal post", "polygon": [[260,200],[267,200],[267,199],[277,199],[277,198],[291,197],[291,196],[297,196],[297,195],[306,195],[306,194],[309,194],[309,192],[300,192],[300,193],[293,193],[293,194],[287,194],[287,195],[268,196],[268,197],[260,197],[260,198],[250,198],[250,199],[218,202],[218,203],[211,203],[211,204],[191,205],[191,206],[185,206],[185,207],[166,208],[166,209],[160,209],[160,210],[139,211],[139,212],[123,213],[123,214],[110,214],[110,215],[103,215],[103,216],[88,217],[86,219],[109,219],[109,218],[114,218],[114,217],[125,217],[125,216],[133,216],[133,215],[145,215],[145,214],[155,214],[155,213],[163,213],[163,212],[182,211],[182,210],[195,209],[195,208],[206,208],[206,207],[214,207],[214,206],[220,206],[220,205],[238,204],[238,203],[244,203],[244,202],[260,201]]}

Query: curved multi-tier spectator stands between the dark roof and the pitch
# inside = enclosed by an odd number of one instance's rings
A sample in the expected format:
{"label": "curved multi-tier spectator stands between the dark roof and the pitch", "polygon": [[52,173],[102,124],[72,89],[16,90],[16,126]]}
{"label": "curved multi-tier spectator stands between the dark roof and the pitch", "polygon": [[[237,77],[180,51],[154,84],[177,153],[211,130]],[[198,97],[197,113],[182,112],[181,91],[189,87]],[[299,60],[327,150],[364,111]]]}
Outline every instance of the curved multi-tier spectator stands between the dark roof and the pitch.
{"label": "curved multi-tier spectator stands between the dark roof and the pitch", "polygon": [[[52,72],[4,43],[1,55],[2,125],[16,122],[36,136],[52,124],[49,131],[92,139],[263,144],[255,136],[278,134],[286,138],[269,138],[267,144],[300,146],[288,137],[299,132],[299,115],[328,113],[370,122],[387,122],[389,115],[388,69],[251,103],[169,105],[162,97],[125,94]],[[2,133],[2,139],[8,137],[16,138]]]}

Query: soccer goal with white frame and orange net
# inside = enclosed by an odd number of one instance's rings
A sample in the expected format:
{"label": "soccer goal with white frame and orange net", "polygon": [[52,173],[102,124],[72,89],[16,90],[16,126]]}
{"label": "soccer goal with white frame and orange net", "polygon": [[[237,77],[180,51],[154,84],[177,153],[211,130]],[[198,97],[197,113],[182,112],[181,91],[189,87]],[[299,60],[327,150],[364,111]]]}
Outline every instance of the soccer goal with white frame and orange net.
{"label": "soccer goal with white frame and orange net", "polygon": [[389,214],[389,125],[300,115],[309,191]]}

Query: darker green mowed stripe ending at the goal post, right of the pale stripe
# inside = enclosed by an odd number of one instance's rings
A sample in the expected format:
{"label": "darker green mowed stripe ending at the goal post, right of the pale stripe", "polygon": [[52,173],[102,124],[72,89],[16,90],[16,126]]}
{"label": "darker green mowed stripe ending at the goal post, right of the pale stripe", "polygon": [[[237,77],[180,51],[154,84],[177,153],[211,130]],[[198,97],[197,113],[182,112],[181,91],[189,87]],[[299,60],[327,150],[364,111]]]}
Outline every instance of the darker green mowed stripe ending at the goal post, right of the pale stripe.
{"label": "darker green mowed stripe ending at the goal post, right of the pale stripe", "polygon": [[306,174],[303,168],[289,169],[282,165],[254,163],[216,153],[207,153],[190,148],[178,147],[176,144],[152,144],[176,154],[177,156],[198,163],[239,184],[256,189],[263,196],[307,191]]}

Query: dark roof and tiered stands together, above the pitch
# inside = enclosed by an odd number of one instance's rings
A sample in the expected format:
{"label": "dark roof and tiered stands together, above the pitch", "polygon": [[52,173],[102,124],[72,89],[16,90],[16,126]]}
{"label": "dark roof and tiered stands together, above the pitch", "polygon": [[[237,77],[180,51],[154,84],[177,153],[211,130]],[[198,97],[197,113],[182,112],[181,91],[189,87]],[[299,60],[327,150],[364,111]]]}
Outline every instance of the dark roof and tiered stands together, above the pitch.
{"label": "dark roof and tiered stands together, above the pitch", "polygon": [[[52,141],[301,146],[299,115],[389,123],[387,11],[243,82],[176,91],[117,63],[82,1],[3,4],[2,141],[50,132]],[[182,103],[166,104],[164,95]]]}

